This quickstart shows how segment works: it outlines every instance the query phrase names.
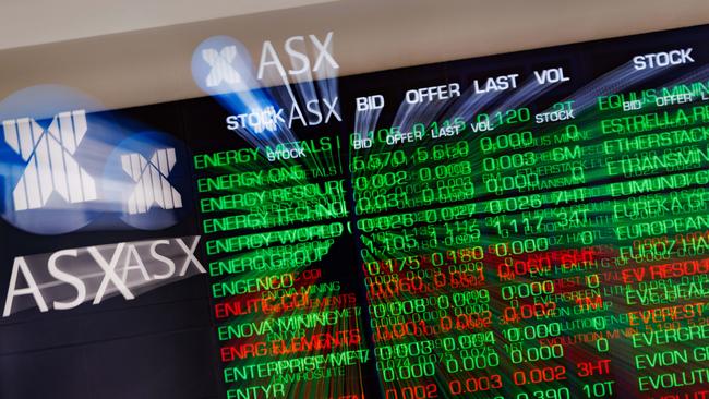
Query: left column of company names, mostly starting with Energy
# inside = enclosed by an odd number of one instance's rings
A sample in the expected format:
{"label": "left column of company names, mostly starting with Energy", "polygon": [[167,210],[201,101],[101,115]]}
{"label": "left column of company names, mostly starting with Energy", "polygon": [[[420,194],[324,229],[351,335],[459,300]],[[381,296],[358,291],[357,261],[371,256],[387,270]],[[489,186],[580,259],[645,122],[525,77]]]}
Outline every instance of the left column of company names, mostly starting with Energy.
{"label": "left column of company names, mostly starting with Energy", "polygon": [[337,125],[262,143],[215,132],[194,167],[224,397],[363,398]]}

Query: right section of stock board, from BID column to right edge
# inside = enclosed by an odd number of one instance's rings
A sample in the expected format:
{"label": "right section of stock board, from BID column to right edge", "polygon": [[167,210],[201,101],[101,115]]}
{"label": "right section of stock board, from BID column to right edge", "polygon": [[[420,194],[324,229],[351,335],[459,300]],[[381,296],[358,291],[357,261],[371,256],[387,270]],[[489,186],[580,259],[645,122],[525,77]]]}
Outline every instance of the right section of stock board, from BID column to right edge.
{"label": "right section of stock board, from BID column to right edge", "polygon": [[360,90],[354,227],[386,398],[708,394],[709,76],[687,48],[632,44],[597,70],[526,52]]}

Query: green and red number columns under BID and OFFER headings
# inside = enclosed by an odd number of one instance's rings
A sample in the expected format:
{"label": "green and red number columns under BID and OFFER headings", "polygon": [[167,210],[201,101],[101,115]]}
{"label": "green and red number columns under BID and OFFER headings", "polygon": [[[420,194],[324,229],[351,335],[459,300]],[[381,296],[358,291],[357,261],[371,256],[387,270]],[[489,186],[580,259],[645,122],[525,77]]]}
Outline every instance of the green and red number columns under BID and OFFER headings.
{"label": "green and red number columns under BID and OFFER headings", "polygon": [[[461,85],[419,92],[395,75],[368,80],[395,85],[362,89],[350,135],[356,235],[384,397],[460,395],[462,370],[476,362],[489,372],[485,384],[502,384],[474,202],[476,150],[462,118],[441,119],[435,107],[459,98]],[[421,102],[421,93],[441,100]]]}

